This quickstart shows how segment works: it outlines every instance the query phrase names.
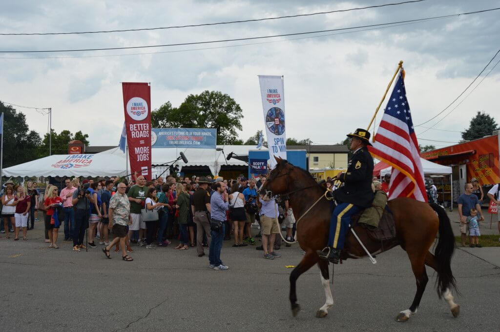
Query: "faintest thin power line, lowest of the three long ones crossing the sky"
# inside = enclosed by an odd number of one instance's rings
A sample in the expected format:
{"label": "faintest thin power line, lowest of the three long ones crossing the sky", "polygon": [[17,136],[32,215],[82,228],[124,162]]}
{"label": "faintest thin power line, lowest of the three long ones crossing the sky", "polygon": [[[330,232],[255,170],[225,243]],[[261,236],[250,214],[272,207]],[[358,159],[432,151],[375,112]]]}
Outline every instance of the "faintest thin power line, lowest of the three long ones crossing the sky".
{"label": "faintest thin power line, lowest of the three long ones crossing the sky", "polygon": [[139,53],[126,53],[126,54],[103,54],[103,55],[32,56],[32,57],[25,57],[25,56],[17,56],[17,57],[15,57],[15,56],[3,56],[3,57],[0,57],[0,59],[70,59],[70,58],[95,58],[95,57],[112,57],[112,56],[129,56],[129,55],[146,55],[146,54],[163,54],[163,53],[189,52],[189,51],[198,51],[198,50],[207,50],[207,49],[220,49],[220,48],[230,48],[230,47],[240,47],[240,46],[250,46],[250,45],[261,45],[261,44],[269,44],[269,43],[275,43],[275,42],[309,39],[309,38],[320,38],[320,37],[333,36],[333,35],[337,35],[337,34],[347,34],[347,33],[363,32],[363,31],[370,31],[370,30],[386,29],[386,28],[391,28],[391,27],[401,26],[401,25],[418,24],[418,23],[423,23],[423,22],[428,22],[428,21],[433,21],[433,20],[439,20],[439,19],[446,19],[446,18],[450,18],[450,17],[431,18],[431,19],[428,19],[426,21],[393,24],[393,25],[387,25],[387,26],[378,26],[378,27],[372,27],[372,28],[366,28],[366,29],[358,29],[358,30],[353,30],[353,31],[343,31],[343,32],[336,32],[336,33],[326,33],[326,34],[319,34],[319,35],[315,35],[315,36],[287,38],[287,39],[281,39],[281,40],[261,41],[261,42],[235,44],[235,45],[224,45],[224,46],[215,46],[215,47],[201,47],[201,48],[177,49],[177,50],[158,51],[158,52],[139,52]]}

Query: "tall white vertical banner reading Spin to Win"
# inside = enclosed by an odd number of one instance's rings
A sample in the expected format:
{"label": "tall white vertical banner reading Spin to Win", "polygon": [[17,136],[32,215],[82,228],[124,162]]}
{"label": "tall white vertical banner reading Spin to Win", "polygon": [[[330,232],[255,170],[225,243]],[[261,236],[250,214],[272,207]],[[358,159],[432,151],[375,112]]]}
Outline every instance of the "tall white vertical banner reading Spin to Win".
{"label": "tall white vertical banner reading Spin to Win", "polygon": [[269,148],[269,164],[272,169],[276,166],[274,156],[286,159],[283,77],[258,75],[258,81]]}

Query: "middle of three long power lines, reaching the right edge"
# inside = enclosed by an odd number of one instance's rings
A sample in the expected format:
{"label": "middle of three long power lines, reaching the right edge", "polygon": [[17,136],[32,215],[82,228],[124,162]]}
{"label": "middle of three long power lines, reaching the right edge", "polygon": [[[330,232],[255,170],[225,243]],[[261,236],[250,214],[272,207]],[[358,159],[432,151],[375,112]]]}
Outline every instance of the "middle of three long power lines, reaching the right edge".
{"label": "middle of three long power lines, reaching the right edge", "polygon": [[102,51],[102,50],[113,50],[113,49],[135,49],[135,48],[152,48],[152,47],[167,47],[167,46],[209,44],[209,43],[218,43],[218,42],[227,42],[227,41],[240,41],[240,40],[254,40],[254,39],[264,39],[264,38],[274,38],[274,37],[285,37],[285,36],[311,34],[311,33],[321,33],[321,32],[331,32],[331,31],[340,31],[340,30],[350,30],[350,29],[355,29],[355,28],[382,26],[382,25],[389,25],[389,24],[426,21],[426,20],[429,20],[429,19],[445,18],[445,17],[452,17],[452,16],[460,16],[460,15],[469,15],[469,14],[487,12],[487,11],[498,10],[498,9],[500,9],[500,7],[491,8],[491,9],[484,9],[484,10],[470,11],[470,12],[462,12],[462,13],[451,14],[451,15],[442,15],[442,16],[434,16],[434,17],[426,17],[426,18],[418,18],[418,19],[409,19],[409,20],[389,22],[389,23],[360,25],[360,26],[354,26],[354,27],[345,27],[345,28],[336,28],[336,29],[327,29],[327,30],[317,30],[317,31],[307,31],[307,32],[284,33],[284,34],[275,34],[275,35],[270,35],[270,36],[258,36],[258,37],[246,37],[246,38],[233,38],[233,39],[221,39],[221,40],[209,40],[209,41],[184,42],[184,43],[162,44],[162,45],[123,46],[123,47],[105,47],[105,48],[58,49],[58,50],[23,50],[23,51],[5,51],[5,50],[0,50],[0,53],[80,52],[80,51]]}

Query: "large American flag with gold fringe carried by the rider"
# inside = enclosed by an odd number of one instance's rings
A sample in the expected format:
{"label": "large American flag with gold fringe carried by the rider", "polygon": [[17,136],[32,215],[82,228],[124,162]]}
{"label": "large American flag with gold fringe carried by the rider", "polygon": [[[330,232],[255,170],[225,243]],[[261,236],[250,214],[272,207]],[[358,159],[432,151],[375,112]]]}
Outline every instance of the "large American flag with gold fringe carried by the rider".
{"label": "large American flag with gold fringe carried by the rider", "polygon": [[373,147],[368,147],[368,151],[392,166],[389,199],[410,197],[427,202],[418,142],[403,76],[404,71],[401,69],[375,134]]}

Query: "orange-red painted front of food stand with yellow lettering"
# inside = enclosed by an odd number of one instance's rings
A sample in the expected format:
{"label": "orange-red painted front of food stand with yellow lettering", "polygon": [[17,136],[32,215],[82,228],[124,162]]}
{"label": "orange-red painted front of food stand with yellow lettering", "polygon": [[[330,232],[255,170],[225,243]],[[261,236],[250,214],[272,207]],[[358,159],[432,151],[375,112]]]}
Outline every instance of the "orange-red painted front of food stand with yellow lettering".
{"label": "orange-red painted front of food stand with yellow lettering", "polygon": [[420,157],[441,165],[465,164],[468,181],[476,178],[481,185],[500,182],[497,135],[423,152]]}

